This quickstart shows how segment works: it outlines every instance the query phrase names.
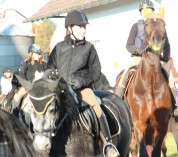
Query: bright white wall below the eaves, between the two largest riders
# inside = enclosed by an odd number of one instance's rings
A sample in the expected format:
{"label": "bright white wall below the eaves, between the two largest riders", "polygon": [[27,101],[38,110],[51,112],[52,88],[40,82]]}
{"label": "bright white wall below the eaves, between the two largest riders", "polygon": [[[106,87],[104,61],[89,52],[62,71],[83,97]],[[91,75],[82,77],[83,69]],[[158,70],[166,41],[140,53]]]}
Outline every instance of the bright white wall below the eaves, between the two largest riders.
{"label": "bright white wall below the eaves, between the two largest riders", "polygon": [[116,76],[130,61],[125,45],[131,26],[139,16],[138,10],[132,10],[90,20],[87,26],[86,39],[100,40],[98,54],[102,71],[112,86]]}

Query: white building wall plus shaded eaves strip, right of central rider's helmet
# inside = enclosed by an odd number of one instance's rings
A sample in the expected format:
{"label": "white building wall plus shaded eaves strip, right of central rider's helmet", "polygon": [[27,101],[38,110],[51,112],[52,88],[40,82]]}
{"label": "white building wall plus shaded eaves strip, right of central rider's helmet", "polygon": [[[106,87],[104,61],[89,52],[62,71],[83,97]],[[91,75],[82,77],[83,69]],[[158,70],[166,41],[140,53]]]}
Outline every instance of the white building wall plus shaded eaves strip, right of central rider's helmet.
{"label": "white building wall plus shaded eaves strip, right of central rider's helmet", "polygon": [[133,23],[139,18],[140,1],[122,1],[85,10],[89,18],[86,39],[97,41],[97,50],[102,71],[110,84],[115,85],[116,76],[130,62],[130,53],[125,45]]}

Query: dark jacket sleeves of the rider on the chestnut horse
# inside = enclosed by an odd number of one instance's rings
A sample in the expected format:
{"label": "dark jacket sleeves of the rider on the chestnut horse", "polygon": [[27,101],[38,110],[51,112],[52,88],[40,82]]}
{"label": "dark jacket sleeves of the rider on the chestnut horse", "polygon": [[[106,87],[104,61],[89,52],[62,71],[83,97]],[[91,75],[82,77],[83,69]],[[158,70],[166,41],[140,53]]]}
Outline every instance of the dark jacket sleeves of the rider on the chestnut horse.
{"label": "dark jacket sleeves of the rider on the chestnut horse", "polygon": [[[127,43],[126,43],[126,49],[128,52],[130,52],[132,54],[132,56],[140,56],[141,51],[144,50],[143,42],[140,45],[140,47],[137,47],[135,44],[135,39],[137,37],[138,30],[139,30],[138,27],[139,27],[138,22],[133,24],[133,26],[130,30],[129,37],[127,39]],[[142,28],[144,28],[144,27],[142,27]],[[163,56],[160,56],[160,60],[167,62],[169,59],[170,59],[170,44],[169,44],[169,40],[168,40],[167,33],[166,33],[165,44],[163,47]]]}

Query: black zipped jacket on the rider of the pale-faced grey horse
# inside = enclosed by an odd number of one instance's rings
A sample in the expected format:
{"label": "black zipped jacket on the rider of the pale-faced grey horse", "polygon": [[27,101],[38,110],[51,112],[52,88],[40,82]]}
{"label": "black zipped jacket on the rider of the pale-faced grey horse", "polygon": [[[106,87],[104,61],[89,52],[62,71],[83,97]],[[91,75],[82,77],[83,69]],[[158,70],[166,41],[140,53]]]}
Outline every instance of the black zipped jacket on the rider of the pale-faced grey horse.
{"label": "black zipped jacket on the rider of the pale-faced grey horse", "polygon": [[47,69],[57,69],[59,78],[67,82],[79,80],[84,88],[99,79],[101,64],[93,44],[86,40],[74,43],[67,37],[52,50]]}

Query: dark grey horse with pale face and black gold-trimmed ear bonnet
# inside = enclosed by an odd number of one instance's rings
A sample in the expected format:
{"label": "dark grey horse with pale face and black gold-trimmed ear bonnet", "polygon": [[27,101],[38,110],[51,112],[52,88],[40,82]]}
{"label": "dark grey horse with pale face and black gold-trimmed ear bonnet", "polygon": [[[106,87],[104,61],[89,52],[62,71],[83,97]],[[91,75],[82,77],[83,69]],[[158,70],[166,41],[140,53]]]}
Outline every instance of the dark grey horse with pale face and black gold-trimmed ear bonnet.
{"label": "dark grey horse with pale face and black gold-trimmed ear bonnet", "polygon": [[[42,78],[34,83],[18,78],[29,89],[32,109],[33,145],[50,156],[101,155],[102,142],[94,110],[80,100],[64,79]],[[95,91],[106,114],[112,141],[121,157],[129,155],[131,115],[126,103],[117,95]]]}

